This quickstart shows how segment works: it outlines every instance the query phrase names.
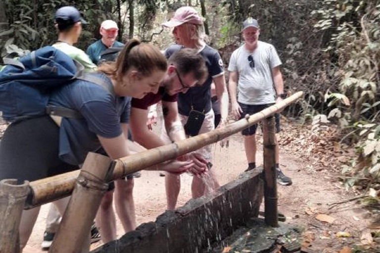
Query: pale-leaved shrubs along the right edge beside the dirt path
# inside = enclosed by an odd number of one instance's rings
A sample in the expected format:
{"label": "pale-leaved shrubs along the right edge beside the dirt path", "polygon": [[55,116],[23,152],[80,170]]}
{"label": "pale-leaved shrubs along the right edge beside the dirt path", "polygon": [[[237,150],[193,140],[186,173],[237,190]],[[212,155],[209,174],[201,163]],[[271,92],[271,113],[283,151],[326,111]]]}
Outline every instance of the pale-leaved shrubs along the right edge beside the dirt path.
{"label": "pale-leaved shrubs along the right edge beside the dirt path", "polygon": [[354,176],[347,181],[351,186],[355,177],[379,180],[380,0],[324,3],[312,15],[318,17],[314,28],[323,33],[324,51],[330,55],[336,77],[334,91],[325,93],[325,102],[331,108],[329,118],[344,121],[341,126],[350,131],[342,141],[350,137],[358,154],[355,168],[342,172]]}

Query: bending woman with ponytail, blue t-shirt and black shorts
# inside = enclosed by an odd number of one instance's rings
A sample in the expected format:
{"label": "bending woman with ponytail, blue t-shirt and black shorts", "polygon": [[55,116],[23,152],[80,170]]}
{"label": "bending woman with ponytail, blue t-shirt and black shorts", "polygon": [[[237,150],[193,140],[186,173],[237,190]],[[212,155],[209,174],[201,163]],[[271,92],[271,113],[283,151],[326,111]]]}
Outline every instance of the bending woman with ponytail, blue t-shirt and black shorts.
{"label": "bending woman with ponytail, blue t-shirt and black shorts", "polygon": [[[34,181],[72,171],[84,162],[88,152],[100,149],[111,159],[128,156],[131,97],[156,93],[166,68],[166,59],[158,48],[132,40],[115,63],[103,64],[95,74],[113,86],[115,95],[81,80],[54,91],[50,105],[76,110],[83,118],[63,118],[60,127],[48,115],[12,123],[0,143],[0,180]],[[192,162],[174,161],[162,170],[181,173],[191,167]],[[57,208],[63,214],[65,205]],[[21,249],[30,237],[39,211],[40,207],[23,211]]]}

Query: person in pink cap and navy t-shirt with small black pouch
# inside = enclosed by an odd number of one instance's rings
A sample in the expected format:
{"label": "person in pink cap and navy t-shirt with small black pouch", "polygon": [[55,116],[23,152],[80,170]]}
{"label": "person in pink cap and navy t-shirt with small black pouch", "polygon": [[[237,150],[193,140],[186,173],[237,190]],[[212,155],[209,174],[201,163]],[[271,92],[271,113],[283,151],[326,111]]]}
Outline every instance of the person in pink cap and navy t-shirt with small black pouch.
{"label": "person in pink cap and navy t-shirt with small black pouch", "polygon": [[[174,17],[162,24],[165,27],[173,28],[173,36],[176,45],[169,46],[165,50],[165,56],[169,58],[174,52],[183,47],[195,48],[202,55],[208,69],[207,80],[200,85],[189,88],[186,93],[178,94],[178,112],[181,122],[184,125],[186,134],[194,136],[209,132],[215,128],[214,112],[211,106],[211,83],[215,83],[216,94],[220,101],[221,126],[225,126],[228,116],[228,92],[224,78],[223,61],[217,50],[207,45],[201,38],[203,37],[203,18],[198,15],[195,9],[189,6],[177,9]],[[169,138],[163,131],[163,138],[169,142]],[[223,143],[221,143],[223,144]],[[206,146],[196,151],[212,166],[211,146]],[[203,178],[193,177],[191,192],[193,198],[198,198],[209,191],[219,187],[214,169],[209,170],[210,182]],[[207,187],[206,187],[207,186]],[[167,173],[165,176],[165,187],[167,197],[167,209],[174,210],[180,192],[180,177]]]}

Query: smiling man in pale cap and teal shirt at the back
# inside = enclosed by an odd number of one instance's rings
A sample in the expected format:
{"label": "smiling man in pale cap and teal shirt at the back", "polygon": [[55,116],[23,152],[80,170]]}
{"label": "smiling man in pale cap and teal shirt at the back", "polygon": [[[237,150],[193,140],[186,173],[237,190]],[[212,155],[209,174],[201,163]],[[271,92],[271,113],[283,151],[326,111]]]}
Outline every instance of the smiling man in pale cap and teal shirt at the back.
{"label": "smiling man in pale cap and teal shirt at the back", "polygon": [[123,47],[124,44],[116,41],[119,28],[113,20],[105,20],[100,25],[99,33],[101,39],[92,43],[86,53],[90,56],[90,59],[98,65],[100,62],[101,53],[110,47]]}

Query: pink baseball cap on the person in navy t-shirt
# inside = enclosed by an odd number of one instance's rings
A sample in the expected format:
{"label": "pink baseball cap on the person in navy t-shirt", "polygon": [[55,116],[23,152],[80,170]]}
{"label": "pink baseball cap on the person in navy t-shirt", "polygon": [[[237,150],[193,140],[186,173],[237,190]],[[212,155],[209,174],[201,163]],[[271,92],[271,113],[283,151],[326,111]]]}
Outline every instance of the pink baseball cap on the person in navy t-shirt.
{"label": "pink baseball cap on the person in navy t-shirt", "polygon": [[203,18],[198,15],[198,12],[190,6],[178,8],[174,17],[169,21],[162,23],[166,27],[176,27],[184,23],[190,23],[194,25],[202,25]]}

